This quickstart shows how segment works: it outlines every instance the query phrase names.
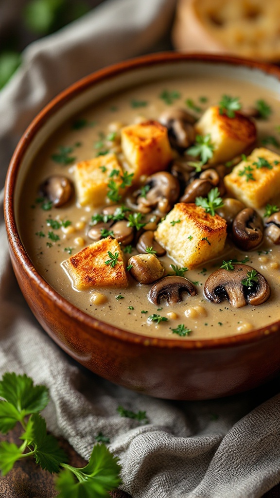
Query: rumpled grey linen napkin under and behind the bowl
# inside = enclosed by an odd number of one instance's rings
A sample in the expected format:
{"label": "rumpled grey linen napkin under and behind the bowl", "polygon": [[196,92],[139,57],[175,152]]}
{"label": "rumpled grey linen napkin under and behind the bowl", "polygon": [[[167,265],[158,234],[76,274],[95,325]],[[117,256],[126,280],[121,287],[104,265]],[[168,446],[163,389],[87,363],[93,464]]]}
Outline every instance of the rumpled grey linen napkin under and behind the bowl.
{"label": "rumpled grey linen napkin under and behind the bowl", "polygon": [[[27,47],[23,66],[0,93],[0,186],[18,137],[43,105],[99,67],[162,46],[174,6],[175,0],[108,0]],[[279,378],[225,399],[178,402],[140,395],[79,367],[25,304],[1,210],[0,375],[6,371],[48,386],[48,429],[83,457],[99,432],[109,437],[121,459],[122,489],[133,498],[259,498],[280,482]],[[149,423],[120,417],[119,405],[145,410]]]}

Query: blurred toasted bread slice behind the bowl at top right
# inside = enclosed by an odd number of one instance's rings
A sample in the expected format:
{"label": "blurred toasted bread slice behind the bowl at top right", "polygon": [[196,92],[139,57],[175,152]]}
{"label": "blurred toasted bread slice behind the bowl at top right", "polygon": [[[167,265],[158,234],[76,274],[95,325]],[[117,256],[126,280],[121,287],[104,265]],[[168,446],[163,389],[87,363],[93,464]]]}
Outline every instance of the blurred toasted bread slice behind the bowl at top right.
{"label": "blurred toasted bread slice behind the bowl at top right", "polygon": [[178,0],[177,50],[280,60],[279,0]]}

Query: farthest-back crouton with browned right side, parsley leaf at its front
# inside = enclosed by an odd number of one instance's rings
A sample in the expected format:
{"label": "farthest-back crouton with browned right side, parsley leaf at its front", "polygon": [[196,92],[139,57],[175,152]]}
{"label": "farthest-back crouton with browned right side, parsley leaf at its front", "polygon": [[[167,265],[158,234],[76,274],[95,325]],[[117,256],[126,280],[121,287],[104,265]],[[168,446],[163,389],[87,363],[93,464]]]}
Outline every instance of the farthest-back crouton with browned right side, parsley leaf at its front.
{"label": "farthest-back crouton with browned right side, parsley leaf at its front", "polygon": [[199,135],[210,133],[214,144],[213,157],[209,164],[228,161],[243,152],[256,140],[257,129],[253,121],[236,112],[234,118],[220,114],[219,107],[209,107],[195,124]]}

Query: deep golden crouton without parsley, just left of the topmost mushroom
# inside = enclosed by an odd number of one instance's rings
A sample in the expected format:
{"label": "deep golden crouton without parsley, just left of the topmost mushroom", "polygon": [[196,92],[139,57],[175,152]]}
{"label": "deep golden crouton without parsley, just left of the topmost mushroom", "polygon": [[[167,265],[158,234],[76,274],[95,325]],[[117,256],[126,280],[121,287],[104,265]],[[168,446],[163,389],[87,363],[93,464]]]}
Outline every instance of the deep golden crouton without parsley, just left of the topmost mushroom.
{"label": "deep golden crouton without parsley, just left of the topmost mushroom", "polygon": [[172,159],[167,128],[157,121],[126,126],[121,131],[121,139],[130,173],[134,173],[134,182],[141,175],[166,169]]}

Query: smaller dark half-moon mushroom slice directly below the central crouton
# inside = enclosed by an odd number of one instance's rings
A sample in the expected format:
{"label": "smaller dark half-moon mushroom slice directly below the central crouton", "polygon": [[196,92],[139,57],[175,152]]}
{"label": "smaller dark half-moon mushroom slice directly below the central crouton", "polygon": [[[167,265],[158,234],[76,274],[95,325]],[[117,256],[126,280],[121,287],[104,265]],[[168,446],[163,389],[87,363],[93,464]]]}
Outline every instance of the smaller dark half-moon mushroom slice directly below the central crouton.
{"label": "smaller dark half-moon mushroom slice directly below the central crouton", "polygon": [[153,304],[160,304],[165,300],[166,304],[176,304],[182,301],[183,292],[190,296],[197,294],[193,283],[185,277],[171,275],[156,282],[148,293],[148,298]]}

